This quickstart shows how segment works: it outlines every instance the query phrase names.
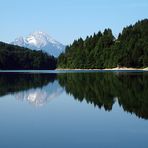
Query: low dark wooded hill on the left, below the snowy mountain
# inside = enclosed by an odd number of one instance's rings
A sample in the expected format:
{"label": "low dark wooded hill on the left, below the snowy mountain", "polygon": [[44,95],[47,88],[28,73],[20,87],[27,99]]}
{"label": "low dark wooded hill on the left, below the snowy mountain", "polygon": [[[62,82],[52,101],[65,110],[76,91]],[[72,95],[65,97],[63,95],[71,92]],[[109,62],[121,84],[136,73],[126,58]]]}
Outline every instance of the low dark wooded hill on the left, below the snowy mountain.
{"label": "low dark wooded hill on the left, below the snowy mountain", "polygon": [[56,59],[42,51],[30,50],[0,42],[0,69],[55,69]]}

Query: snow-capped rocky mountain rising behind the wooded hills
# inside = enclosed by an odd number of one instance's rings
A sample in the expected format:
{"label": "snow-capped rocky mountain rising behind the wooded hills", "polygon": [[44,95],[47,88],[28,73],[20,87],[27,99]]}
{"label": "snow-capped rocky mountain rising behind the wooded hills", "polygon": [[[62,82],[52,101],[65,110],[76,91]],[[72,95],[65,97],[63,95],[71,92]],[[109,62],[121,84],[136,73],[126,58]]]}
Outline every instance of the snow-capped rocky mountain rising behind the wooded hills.
{"label": "snow-capped rocky mountain rising behind the wooded hills", "polygon": [[28,37],[19,37],[11,42],[13,45],[27,47],[33,50],[43,50],[50,55],[58,57],[60,53],[64,52],[65,46],[54,40],[47,33],[34,32]]}

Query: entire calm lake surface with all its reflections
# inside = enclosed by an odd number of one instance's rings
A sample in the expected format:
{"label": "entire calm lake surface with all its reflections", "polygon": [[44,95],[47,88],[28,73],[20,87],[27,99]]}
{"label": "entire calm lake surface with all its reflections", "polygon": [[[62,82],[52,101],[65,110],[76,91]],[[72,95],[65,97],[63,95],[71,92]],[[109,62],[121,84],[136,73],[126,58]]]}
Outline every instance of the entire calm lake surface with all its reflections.
{"label": "entire calm lake surface with all its reflections", "polygon": [[0,72],[1,148],[147,148],[147,137],[147,72]]}

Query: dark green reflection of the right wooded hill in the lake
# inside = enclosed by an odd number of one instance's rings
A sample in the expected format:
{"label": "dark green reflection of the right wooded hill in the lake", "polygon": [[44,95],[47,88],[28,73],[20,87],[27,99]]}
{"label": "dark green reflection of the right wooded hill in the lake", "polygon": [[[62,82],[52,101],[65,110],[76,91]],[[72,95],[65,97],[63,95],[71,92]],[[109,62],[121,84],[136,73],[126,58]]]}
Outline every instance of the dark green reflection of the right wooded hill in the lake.
{"label": "dark green reflection of the right wooded hill in the lake", "polygon": [[80,102],[111,111],[115,101],[124,111],[148,119],[147,73],[60,74],[59,83]]}

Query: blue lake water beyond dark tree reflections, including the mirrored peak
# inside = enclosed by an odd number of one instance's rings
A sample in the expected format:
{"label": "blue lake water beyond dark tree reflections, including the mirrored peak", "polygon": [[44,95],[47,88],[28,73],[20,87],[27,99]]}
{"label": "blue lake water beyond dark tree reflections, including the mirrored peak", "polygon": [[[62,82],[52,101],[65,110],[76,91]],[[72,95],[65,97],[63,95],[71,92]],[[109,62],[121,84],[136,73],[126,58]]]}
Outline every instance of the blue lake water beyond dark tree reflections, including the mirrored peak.
{"label": "blue lake water beyond dark tree reflections, including the mirrored peak", "polygon": [[[114,95],[115,103],[106,111],[85,99],[75,100],[57,80],[5,95],[0,98],[0,148],[147,148],[148,120],[125,111],[120,99]],[[36,108],[28,102],[47,105]]]}

